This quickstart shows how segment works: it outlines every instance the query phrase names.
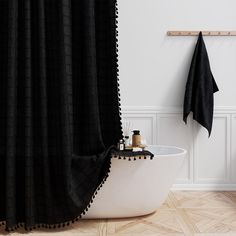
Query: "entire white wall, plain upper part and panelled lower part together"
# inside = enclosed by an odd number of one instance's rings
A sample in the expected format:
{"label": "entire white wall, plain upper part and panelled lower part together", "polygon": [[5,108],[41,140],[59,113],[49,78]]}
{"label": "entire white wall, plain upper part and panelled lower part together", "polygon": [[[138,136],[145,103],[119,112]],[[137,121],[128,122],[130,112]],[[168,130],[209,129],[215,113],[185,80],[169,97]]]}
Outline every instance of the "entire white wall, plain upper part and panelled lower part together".
{"label": "entire white wall, plain upper part and panelled lower part together", "polygon": [[168,30],[236,30],[235,0],[119,0],[123,116],[149,143],[185,147],[175,187],[236,189],[236,37],[205,37],[220,92],[210,139],[182,122],[185,83],[196,37]]}

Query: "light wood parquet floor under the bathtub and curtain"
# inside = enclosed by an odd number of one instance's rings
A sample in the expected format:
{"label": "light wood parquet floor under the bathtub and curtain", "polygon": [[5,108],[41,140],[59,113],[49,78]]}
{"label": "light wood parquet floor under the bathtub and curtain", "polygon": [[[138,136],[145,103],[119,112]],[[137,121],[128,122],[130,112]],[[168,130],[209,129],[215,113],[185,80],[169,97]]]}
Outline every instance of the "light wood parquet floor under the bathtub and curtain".
{"label": "light wood parquet floor under the bathtub and curtain", "polygon": [[[24,231],[12,233],[19,235]],[[0,231],[0,234],[5,234]],[[156,213],[128,219],[81,220],[60,231],[30,235],[65,236],[236,236],[236,192],[170,192]]]}

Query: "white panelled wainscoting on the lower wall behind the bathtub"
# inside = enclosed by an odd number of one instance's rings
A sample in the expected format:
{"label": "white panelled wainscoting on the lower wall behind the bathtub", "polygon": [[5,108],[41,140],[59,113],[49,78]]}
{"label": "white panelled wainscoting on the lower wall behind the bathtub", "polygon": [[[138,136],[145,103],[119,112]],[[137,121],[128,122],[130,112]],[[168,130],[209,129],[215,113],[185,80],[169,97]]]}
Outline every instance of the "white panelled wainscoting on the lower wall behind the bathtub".
{"label": "white panelled wainscoting on the lower wall behind the bathtub", "polygon": [[[188,151],[173,189],[236,190],[236,107],[216,107],[212,135],[178,107],[123,107],[123,120],[141,130],[148,144]],[[168,171],[168,170],[167,170]]]}

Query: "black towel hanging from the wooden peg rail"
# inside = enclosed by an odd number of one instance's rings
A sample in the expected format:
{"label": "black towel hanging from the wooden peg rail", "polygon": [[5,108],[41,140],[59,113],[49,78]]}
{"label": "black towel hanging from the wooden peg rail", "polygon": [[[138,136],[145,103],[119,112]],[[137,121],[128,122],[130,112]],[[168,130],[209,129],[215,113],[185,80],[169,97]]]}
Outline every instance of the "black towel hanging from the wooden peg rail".
{"label": "black towel hanging from the wooden peg rail", "polygon": [[213,121],[214,93],[217,91],[219,90],[200,32],[186,84],[183,120],[187,123],[187,117],[192,111],[193,119],[208,130],[209,137]]}

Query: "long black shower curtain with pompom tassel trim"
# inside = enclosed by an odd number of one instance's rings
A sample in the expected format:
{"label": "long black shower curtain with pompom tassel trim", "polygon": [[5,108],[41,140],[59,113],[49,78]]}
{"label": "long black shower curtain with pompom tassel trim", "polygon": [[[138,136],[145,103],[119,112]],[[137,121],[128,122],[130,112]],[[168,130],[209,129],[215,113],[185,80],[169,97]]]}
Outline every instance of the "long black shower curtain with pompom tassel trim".
{"label": "long black shower curtain with pompom tassel trim", "polygon": [[84,214],[122,137],[116,0],[0,1],[0,222]]}

